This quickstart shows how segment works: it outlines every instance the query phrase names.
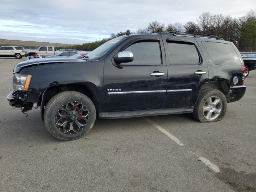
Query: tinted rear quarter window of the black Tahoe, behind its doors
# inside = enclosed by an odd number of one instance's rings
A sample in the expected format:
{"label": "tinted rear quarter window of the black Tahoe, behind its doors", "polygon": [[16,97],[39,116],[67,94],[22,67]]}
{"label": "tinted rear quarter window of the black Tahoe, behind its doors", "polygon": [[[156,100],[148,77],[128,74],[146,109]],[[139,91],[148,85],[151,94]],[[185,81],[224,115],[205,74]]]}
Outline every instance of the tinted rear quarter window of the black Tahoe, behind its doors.
{"label": "tinted rear quarter window of the black Tahoe, behind its doors", "polygon": [[202,41],[212,62],[216,65],[242,65],[232,44]]}

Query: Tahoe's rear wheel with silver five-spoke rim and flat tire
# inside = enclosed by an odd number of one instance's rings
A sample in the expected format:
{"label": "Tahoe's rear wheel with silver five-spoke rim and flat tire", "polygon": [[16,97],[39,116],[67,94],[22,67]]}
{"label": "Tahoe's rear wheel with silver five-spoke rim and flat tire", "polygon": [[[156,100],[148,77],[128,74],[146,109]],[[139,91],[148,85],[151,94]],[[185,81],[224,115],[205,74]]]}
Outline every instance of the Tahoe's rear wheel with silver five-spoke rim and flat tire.
{"label": "Tahoe's rear wheel with silver five-spoke rim and flat tire", "polygon": [[[210,100],[212,100],[212,104],[209,104]],[[217,103],[218,100],[220,101],[214,107],[215,100],[215,103]],[[194,106],[193,118],[194,120],[199,122],[216,122],[222,120],[226,113],[226,110],[226,96],[219,90],[207,89],[203,90],[198,97],[196,105]],[[208,116],[208,114],[210,114],[210,116]]]}

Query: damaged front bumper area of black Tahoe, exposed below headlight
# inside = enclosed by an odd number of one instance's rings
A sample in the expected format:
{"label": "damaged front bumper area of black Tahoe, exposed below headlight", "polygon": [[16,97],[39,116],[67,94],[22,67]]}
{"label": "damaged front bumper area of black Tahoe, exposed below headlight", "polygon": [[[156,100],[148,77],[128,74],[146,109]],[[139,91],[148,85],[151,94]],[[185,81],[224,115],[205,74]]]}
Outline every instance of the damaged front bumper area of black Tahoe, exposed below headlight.
{"label": "damaged front bumper area of black Tahoe, exposed below headlight", "polygon": [[[10,106],[14,108],[21,108],[21,112],[26,114],[25,112],[32,110],[32,108],[37,108],[37,102],[33,102],[33,94],[28,94],[23,91],[14,90],[10,92],[7,96],[7,100]],[[28,114],[26,114],[28,116]]]}

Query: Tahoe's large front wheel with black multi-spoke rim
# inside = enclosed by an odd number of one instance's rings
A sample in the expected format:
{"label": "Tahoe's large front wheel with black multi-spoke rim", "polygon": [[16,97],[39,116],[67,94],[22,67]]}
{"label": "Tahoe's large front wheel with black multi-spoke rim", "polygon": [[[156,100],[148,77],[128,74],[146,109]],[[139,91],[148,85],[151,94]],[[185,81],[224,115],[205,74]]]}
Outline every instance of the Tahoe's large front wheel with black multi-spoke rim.
{"label": "Tahoe's large front wheel with black multi-spoke rim", "polygon": [[[86,110],[83,111],[83,113],[87,113],[88,111],[89,116],[88,114],[82,116],[82,112],[75,111],[75,105],[76,107],[80,108],[78,111],[82,109]],[[69,111],[68,108],[71,109],[72,107],[74,108],[74,110]],[[72,115],[73,113],[74,115]],[[75,118],[73,116],[75,116]],[[83,119],[78,118],[78,116],[81,118],[83,117],[84,119],[88,119],[87,121],[81,123]],[[71,120],[71,117],[73,118],[73,120]],[[58,120],[58,118],[60,119]],[[83,137],[92,129],[95,119],[96,110],[92,100],[90,100],[90,98],[88,98],[86,95],[75,91],[65,91],[55,95],[47,103],[44,111],[44,125],[46,129],[50,132],[52,136],[63,141],[74,140]],[[74,122],[74,120],[76,120],[76,122]],[[72,123],[70,123],[71,121]],[[78,127],[77,121],[79,121],[80,125],[84,125]],[[66,122],[66,124],[64,126],[61,126],[60,124],[62,124],[63,122]],[[72,124],[73,130],[71,129],[70,124]]]}

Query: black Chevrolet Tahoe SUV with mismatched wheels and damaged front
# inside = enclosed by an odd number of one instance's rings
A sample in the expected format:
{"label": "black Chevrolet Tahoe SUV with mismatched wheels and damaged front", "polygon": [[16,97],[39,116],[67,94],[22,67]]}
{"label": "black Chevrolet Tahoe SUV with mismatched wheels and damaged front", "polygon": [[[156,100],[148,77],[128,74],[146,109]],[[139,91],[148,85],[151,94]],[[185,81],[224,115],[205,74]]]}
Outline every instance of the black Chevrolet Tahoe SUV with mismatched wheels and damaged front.
{"label": "black Chevrolet Tahoe SUV with mismatched wheels and damaged front", "polygon": [[14,68],[7,99],[22,112],[40,106],[60,140],[84,136],[98,118],[192,113],[221,120],[245,93],[244,63],[216,36],[162,32],[114,38],[84,60],[39,58]]}

